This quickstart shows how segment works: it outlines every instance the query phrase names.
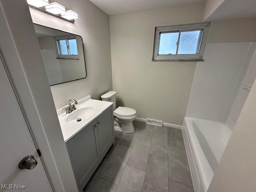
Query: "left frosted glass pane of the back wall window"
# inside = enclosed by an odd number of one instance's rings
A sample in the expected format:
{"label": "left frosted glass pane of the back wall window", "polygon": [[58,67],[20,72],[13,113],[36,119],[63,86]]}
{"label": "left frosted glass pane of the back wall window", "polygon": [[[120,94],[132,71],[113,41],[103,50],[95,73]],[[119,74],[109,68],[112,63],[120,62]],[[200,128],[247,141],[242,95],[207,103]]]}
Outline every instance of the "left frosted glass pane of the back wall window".
{"label": "left frosted glass pane of the back wall window", "polygon": [[176,54],[179,32],[161,33],[158,54]]}

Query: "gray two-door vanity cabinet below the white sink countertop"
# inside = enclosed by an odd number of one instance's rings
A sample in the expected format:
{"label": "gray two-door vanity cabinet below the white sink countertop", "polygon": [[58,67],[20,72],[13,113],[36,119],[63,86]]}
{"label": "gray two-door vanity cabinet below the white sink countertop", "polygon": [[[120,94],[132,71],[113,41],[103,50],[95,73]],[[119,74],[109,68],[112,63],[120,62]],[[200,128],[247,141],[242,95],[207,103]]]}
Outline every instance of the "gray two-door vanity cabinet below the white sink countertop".
{"label": "gray two-door vanity cabinet below the white sink countertop", "polygon": [[113,107],[66,142],[78,190],[83,191],[90,177],[114,143]]}

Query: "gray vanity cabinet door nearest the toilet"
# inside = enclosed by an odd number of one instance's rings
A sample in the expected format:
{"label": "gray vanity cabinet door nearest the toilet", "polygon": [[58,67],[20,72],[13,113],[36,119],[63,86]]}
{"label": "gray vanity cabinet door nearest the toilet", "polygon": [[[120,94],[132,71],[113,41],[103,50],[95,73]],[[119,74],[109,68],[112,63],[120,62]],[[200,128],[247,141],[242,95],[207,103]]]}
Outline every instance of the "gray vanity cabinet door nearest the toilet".
{"label": "gray vanity cabinet door nearest the toilet", "polygon": [[102,157],[106,155],[115,140],[113,120],[113,106],[108,108],[97,118],[100,154]]}

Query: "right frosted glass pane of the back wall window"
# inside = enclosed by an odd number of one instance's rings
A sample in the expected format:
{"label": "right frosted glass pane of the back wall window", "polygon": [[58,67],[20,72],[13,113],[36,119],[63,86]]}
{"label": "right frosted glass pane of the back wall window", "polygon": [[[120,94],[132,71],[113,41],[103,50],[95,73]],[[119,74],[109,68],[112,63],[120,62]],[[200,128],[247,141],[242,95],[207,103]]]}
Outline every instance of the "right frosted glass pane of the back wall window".
{"label": "right frosted glass pane of the back wall window", "polygon": [[198,54],[201,37],[202,30],[181,32],[178,54]]}

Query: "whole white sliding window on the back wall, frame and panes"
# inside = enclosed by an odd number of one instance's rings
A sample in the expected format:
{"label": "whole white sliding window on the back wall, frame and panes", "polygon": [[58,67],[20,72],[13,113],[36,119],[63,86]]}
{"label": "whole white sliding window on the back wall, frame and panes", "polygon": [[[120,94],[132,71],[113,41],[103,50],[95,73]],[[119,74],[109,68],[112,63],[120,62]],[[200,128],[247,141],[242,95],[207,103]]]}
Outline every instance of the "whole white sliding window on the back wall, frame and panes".
{"label": "whole white sliding window on the back wall, frame and panes", "polygon": [[153,61],[202,61],[210,22],[156,27]]}

